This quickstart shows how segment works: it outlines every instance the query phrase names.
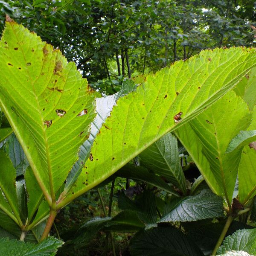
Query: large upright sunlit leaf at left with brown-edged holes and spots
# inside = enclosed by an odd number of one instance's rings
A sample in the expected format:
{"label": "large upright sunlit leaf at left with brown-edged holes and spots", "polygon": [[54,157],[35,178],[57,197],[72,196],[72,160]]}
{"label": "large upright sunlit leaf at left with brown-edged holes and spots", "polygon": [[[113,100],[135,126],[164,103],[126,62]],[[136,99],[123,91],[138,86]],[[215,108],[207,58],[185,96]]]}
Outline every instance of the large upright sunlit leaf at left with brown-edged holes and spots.
{"label": "large upright sunlit leaf at left with brown-edged holes and spots", "polygon": [[15,22],[0,43],[0,106],[51,201],[88,137],[94,96],[58,49]]}

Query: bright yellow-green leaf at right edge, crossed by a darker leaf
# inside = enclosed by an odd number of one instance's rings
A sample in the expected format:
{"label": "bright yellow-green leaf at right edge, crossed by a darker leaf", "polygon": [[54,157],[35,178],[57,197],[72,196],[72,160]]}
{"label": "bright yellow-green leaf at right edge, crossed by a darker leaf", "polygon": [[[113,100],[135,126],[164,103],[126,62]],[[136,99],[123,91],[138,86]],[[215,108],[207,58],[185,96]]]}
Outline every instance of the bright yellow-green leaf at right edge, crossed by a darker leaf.
{"label": "bright yellow-green leaf at right edge, crossed by a darker leaf", "polygon": [[[256,107],[253,109],[252,122],[248,130],[256,129]],[[256,150],[250,145],[242,149],[241,160],[238,169],[239,201],[245,204],[256,194]]]}

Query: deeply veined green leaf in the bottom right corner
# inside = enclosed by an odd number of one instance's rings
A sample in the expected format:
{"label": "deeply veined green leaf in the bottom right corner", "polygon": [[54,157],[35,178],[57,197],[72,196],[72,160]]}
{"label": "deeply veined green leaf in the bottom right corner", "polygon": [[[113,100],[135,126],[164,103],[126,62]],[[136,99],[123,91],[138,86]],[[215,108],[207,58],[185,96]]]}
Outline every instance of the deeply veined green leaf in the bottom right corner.
{"label": "deeply veined green leaf in the bottom right corner", "polygon": [[253,255],[256,254],[256,229],[237,230],[227,236],[217,253],[222,254],[229,250],[243,250]]}

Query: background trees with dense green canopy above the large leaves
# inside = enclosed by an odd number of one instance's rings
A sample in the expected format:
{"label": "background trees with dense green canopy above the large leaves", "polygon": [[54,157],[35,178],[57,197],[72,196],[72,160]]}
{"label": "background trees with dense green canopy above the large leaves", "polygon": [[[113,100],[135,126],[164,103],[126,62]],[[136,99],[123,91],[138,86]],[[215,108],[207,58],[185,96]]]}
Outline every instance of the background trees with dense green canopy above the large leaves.
{"label": "background trees with dense green canopy above the large leaves", "polygon": [[60,47],[106,94],[201,49],[253,46],[253,0],[8,0],[5,14]]}

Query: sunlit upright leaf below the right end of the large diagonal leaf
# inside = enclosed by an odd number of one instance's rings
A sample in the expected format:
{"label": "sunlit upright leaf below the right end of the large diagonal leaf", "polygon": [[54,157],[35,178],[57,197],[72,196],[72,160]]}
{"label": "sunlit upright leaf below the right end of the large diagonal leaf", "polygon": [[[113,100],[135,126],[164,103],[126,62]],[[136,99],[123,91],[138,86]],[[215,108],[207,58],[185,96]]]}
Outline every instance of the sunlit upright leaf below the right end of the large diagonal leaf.
{"label": "sunlit upright leaf below the right end of the large diagonal leaf", "polygon": [[[189,129],[185,128],[187,124],[176,131],[189,154],[192,152],[192,157],[199,157],[197,155],[199,153],[208,160],[210,170],[200,169],[202,175],[209,186],[214,188],[213,191],[219,191],[220,187],[221,194],[230,202],[236,183],[241,150],[229,154],[225,154],[225,152],[232,138],[241,129],[247,129],[250,121],[251,114],[247,104],[231,91],[189,122],[196,134],[196,143],[189,144],[189,141],[186,141],[187,134],[185,132]],[[201,152],[193,152],[197,145],[199,146],[199,141],[203,145]],[[214,179],[212,179],[212,175]]]}

